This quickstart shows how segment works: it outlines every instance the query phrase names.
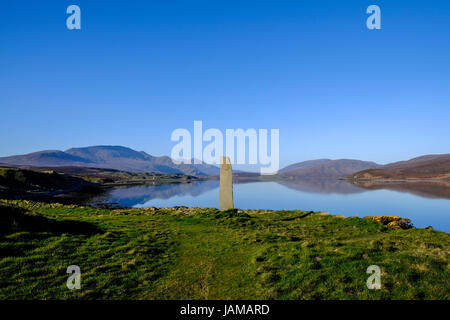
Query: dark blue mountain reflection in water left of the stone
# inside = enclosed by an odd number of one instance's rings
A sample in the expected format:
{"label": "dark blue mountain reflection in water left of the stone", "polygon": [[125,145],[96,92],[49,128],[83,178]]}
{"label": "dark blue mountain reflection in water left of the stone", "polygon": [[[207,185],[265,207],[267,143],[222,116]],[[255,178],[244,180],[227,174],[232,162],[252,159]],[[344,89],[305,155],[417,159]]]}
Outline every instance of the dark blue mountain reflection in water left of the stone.
{"label": "dark blue mountain reflection in water left of the stone", "polygon": [[190,183],[114,188],[106,194],[92,199],[91,204],[110,203],[118,204],[122,207],[133,207],[138,204],[144,204],[152,199],[169,199],[174,196],[196,197],[218,187],[218,180],[205,180]]}

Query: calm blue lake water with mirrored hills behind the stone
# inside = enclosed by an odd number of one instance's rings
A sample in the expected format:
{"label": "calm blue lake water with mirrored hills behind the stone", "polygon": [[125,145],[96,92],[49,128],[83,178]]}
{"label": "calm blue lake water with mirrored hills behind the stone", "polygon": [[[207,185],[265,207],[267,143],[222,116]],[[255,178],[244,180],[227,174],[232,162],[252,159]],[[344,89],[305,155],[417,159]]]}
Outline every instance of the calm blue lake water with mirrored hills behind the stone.
{"label": "calm blue lake water with mirrored hills behind the stone", "polygon": [[[361,217],[397,215],[411,219],[414,226],[419,228],[431,225],[437,230],[449,232],[449,190],[443,188],[403,185],[395,186],[394,189],[397,190],[368,190],[345,181],[319,180],[235,183],[233,193],[235,207],[241,209],[321,210],[331,214]],[[218,181],[198,181],[189,184],[116,188],[94,198],[91,203],[139,208],[217,207],[218,199]]]}

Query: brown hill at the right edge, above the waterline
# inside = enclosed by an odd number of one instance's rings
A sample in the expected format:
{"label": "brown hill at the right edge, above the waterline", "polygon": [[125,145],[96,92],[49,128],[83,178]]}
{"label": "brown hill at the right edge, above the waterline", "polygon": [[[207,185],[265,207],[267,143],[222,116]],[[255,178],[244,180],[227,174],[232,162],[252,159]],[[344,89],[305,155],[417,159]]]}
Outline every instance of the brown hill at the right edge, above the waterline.
{"label": "brown hill at the right edge, above the waterline", "polygon": [[353,180],[450,180],[450,154],[434,154],[363,170],[350,176]]}

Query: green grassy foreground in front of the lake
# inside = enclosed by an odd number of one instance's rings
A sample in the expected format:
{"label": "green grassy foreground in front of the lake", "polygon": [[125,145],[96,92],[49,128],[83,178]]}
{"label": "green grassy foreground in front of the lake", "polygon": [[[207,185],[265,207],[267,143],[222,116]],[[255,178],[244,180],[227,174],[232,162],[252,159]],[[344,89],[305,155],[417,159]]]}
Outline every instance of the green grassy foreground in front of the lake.
{"label": "green grassy foreground in front of the lake", "polygon": [[[0,200],[0,299],[449,299],[447,233],[302,211]],[[381,290],[366,269],[381,268]],[[66,287],[67,266],[81,289]]]}

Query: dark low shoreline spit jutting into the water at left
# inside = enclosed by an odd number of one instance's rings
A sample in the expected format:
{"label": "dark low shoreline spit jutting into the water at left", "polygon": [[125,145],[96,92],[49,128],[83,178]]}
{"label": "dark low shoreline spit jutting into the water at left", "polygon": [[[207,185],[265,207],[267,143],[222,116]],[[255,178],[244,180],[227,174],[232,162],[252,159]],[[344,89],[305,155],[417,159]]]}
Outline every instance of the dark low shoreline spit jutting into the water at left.
{"label": "dark low shoreline spit jutting into the water at left", "polygon": [[112,187],[189,183],[201,179],[205,177],[86,167],[33,167],[28,170],[0,166],[0,198],[84,204]]}

